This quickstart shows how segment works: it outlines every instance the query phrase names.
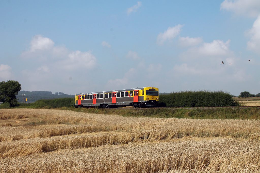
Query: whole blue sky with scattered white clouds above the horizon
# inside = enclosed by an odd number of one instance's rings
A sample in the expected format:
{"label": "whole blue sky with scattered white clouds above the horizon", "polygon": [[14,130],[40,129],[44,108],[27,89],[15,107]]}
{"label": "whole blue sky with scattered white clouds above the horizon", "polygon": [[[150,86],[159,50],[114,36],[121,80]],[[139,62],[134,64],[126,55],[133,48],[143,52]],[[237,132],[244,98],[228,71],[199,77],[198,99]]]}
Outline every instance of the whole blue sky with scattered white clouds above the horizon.
{"label": "whole blue sky with scattered white clouds above the horizon", "polygon": [[25,91],[257,94],[259,56],[259,0],[0,1],[0,81]]}

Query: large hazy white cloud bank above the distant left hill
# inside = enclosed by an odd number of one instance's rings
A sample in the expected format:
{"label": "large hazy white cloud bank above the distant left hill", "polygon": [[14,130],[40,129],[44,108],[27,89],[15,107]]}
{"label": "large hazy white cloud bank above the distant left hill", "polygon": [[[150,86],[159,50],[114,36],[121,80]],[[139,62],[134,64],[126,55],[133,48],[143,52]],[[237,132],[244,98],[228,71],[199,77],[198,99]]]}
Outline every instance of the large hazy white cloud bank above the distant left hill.
{"label": "large hazy white cloud bank above the distant left hill", "polygon": [[[32,43],[37,40],[35,38],[38,37],[33,37]],[[51,39],[45,38],[44,40]],[[34,51],[29,49],[29,51],[22,53],[22,57],[30,58],[23,59],[30,64],[30,68],[24,69],[18,74],[19,80],[23,81],[24,89],[61,92],[64,91],[60,89],[66,89],[67,93],[74,94],[81,86],[94,88],[87,80],[82,80],[82,77],[86,76],[90,80],[89,76],[91,75],[88,74],[97,67],[96,57],[90,51],[72,51],[65,46],[56,46],[54,42],[46,45],[51,46],[38,46],[38,48],[43,48],[32,49]],[[82,85],[75,85],[75,81],[81,81]],[[64,87],[65,85],[66,87]],[[82,91],[81,89],[80,91]]]}

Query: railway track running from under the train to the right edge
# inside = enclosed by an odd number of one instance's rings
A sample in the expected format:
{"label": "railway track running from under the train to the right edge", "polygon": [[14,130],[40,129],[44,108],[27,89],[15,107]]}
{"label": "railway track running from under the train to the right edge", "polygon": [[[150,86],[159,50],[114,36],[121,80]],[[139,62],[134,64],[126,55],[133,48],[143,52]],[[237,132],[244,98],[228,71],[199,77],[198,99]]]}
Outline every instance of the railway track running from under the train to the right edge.
{"label": "railway track running from under the train to the right edge", "polygon": [[130,109],[130,110],[145,110],[145,109],[216,109],[216,108],[231,108],[231,109],[247,109],[247,108],[257,108],[260,106],[222,106],[222,107],[156,107],[156,108],[117,108],[117,109]]}

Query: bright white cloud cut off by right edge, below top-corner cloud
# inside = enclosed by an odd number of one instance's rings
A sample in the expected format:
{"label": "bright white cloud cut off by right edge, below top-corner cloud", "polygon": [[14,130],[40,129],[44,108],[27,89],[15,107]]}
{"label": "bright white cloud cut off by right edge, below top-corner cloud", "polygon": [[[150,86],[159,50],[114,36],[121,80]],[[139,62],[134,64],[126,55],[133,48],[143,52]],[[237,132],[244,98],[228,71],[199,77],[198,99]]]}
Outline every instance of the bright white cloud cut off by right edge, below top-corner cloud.
{"label": "bright white cloud cut off by right edge, below top-corner cloud", "polygon": [[247,48],[260,54],[260,15],[258,15],[248,34],[251,35],[251,38],[247,42]]}

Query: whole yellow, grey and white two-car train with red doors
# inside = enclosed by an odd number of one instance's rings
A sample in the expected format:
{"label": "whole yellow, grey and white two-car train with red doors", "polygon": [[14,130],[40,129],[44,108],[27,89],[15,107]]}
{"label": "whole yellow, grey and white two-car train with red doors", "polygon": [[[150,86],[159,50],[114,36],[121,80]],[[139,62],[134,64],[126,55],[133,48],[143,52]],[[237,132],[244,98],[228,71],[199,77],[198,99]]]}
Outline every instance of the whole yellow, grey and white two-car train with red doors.
{"label": "whole yellow, grey and white two-car train with red doors", "polygon": [[158,102],[159,89],[155,87],[80,93],[75,95],[76,108],[157,107]]}

